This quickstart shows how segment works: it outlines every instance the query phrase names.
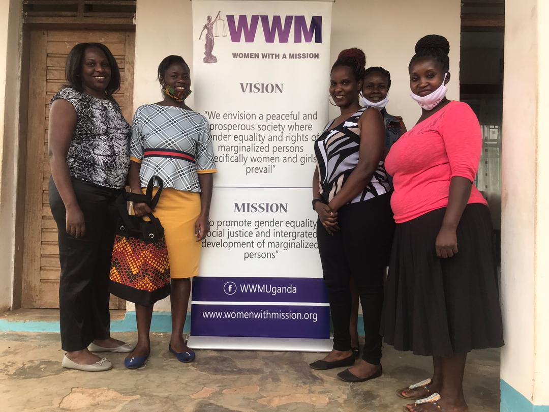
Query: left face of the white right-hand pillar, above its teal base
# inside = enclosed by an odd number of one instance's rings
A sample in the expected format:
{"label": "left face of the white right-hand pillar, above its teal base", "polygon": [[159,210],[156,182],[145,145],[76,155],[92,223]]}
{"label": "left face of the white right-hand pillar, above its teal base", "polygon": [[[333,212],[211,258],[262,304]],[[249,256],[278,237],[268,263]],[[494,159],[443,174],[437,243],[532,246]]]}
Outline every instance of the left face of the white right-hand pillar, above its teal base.
{"label": "left face of the white right-hand pillar, above its teal base", "polygon": [[[501,378],[533,397],[534,247],[537,93],[536,0],[507,2],[503,85],[501,299],[504,337]],[[528,44],[529,47],[524,47]],[[519,91],[520,90],[520,91]],[[520,119],[517,121],[516,119]],[[517,171],[520,170],[520,179]]]}

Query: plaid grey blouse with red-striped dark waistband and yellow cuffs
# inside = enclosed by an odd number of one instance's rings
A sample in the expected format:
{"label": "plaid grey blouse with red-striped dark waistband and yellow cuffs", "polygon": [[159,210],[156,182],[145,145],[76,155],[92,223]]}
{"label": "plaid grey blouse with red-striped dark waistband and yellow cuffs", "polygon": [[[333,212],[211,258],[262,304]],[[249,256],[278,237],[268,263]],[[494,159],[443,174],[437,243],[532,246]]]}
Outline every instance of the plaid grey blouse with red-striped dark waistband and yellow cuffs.
{"label": "plaid grey blouse with red-striped dark waistband and yellow cuffs", "polygon": [[141,163],[141,187],[154,175],[164,187],[200,192],[199,173],[215,173],[210,125],[200,113],[145,104],[133,115],[130,156]]}

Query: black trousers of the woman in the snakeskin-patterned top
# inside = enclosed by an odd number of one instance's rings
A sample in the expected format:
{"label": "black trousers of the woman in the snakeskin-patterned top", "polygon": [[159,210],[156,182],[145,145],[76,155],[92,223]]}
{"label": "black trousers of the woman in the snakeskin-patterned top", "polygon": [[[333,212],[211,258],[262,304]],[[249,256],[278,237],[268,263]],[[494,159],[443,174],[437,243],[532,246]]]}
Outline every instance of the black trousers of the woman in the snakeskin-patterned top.
{"label": "black trousers of the woman in the snakeskin-patterned top", "polygon": [[61,347],[68,352],[110,336],[109,270],[118,218],[114,201],[122,192],[75,179],[72,187],[86,224],[86,234],[79,238],[66,232],[65,206],[49,180],[49,205],[59,230]]}

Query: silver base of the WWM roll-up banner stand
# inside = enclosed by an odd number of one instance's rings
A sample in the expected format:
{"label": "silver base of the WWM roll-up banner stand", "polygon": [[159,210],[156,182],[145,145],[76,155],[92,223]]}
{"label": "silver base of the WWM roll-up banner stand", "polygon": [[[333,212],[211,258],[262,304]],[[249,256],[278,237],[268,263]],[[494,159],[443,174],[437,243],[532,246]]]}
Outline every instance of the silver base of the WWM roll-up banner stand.
{"label": "silver base of the WWM roll-up banner stand", "polygon": [[232,336],[189,336],[191,349],[277,350],[282,352],[330,352],[333,341],[310,338],[254,338]]}

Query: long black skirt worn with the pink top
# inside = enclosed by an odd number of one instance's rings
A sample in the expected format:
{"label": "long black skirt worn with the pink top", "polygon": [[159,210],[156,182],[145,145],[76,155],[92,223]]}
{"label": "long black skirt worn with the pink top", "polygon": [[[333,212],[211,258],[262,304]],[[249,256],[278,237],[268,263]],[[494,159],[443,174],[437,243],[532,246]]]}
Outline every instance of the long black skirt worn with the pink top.
{"label": "long black skirt worn with the pink top", "polygon": [[385,286],[382,335],[397,350],[449,357],[503,346],[488,207],[469,204],[457,227],[458,253],[436,257],[446,208],[396,225]]}

